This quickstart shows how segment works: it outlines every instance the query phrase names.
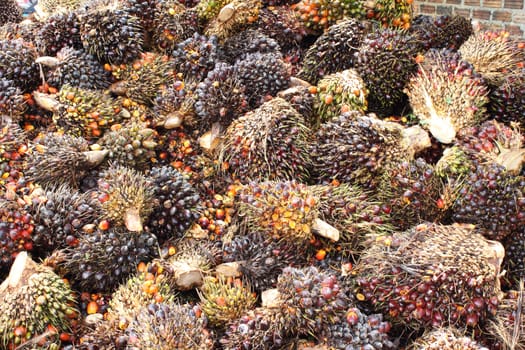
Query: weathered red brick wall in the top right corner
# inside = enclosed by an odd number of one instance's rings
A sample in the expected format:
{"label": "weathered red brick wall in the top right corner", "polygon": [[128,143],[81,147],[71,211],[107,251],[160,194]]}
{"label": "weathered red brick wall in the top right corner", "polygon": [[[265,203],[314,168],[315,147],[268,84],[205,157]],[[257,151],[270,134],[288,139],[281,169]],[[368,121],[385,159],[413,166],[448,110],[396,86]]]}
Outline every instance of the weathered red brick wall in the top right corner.
{"label": "weathered red brick wall in the top right corner", "polygon": [[525,0],[416,0],[416,14],[460,15],[483,29],[505,29],[525,37]]}

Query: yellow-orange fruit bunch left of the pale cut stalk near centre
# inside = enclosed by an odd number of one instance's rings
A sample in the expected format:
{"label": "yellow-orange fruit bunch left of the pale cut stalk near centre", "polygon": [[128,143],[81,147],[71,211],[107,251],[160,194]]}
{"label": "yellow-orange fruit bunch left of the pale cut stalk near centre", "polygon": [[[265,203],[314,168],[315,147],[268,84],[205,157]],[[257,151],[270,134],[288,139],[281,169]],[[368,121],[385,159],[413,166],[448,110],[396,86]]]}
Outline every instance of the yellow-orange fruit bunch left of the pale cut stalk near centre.
{"label": "yellow-orange fruit bunch left of the pale cut stalk near centre", "polygon": [[250,182],[239,190],[236,203],[237,214],[251,230],[298,246],[313,237],[318,199],[304,184]]}

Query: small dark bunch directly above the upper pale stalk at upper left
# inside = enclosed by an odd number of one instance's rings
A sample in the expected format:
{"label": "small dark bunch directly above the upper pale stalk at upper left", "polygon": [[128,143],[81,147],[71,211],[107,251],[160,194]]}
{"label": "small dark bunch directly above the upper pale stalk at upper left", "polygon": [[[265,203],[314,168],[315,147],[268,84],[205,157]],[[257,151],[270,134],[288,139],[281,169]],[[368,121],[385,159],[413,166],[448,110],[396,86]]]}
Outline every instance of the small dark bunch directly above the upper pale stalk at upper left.
{"label": "small dark bunch directly above the upper pale stalk at upper left", "polygon": [[64,47],[82,48],[80,22],[76,12],[56,13],[46,19],[36,33],[36,45],[46,55],[54,56]]}

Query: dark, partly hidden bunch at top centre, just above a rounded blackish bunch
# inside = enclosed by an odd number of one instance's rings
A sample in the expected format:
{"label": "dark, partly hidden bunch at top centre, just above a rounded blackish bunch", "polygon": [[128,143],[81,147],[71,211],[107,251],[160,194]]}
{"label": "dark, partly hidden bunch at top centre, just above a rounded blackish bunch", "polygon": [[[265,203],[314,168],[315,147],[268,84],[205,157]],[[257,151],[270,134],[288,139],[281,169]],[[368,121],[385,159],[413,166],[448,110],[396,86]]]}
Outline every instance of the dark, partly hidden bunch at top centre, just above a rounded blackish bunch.
{"label": "dark, partly hidden bunch at top centre, just above a rounded blackish bunch", "polygon": [[227,38],[221,45],[221,58],[233,64],[246,54],[278,53],[281,47],[279,43],[258,29],[246,29]]}

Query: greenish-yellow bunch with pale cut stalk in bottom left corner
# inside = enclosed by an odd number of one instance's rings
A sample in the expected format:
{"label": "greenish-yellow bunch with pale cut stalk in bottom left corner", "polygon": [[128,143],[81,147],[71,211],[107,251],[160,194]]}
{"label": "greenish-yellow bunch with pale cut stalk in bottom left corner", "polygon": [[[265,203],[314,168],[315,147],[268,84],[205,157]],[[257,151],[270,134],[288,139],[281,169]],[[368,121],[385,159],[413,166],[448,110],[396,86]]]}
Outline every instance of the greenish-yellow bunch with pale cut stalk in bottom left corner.
{"label": "greenish-yellow bunch with pale cut stalk in bottom left corner", "polygon": [[38,343],[39,338],[58,348],[59,336],[71,330],[78,314],[69,285],[26,252],[18,254],[0,292],[0,344],[4,349],[32,340]]}

